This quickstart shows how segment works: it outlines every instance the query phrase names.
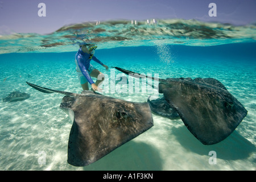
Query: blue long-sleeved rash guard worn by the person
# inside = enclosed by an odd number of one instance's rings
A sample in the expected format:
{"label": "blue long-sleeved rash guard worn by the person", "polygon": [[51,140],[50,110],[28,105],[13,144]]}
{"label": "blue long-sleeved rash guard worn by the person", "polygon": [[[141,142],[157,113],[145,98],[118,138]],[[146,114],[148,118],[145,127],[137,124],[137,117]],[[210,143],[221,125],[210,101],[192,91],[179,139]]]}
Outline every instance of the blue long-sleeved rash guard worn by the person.
{"label": "blue long-sleeved rash guard worn by the person", "polygon": [[76,53],[76,61],[77,65],[79,66],[80,70],[76,70],[77,72],[81,71],[82,75],[88,80],[89,84],[94,84],[92,78],[89,75],[88,69],[90,67],[90,60],[94,60],[96,63],[103,65],[100,60],[97,59],[97,57],[93,56],[90,59],[90,54],[83,52],[82,48],[80,48]]}

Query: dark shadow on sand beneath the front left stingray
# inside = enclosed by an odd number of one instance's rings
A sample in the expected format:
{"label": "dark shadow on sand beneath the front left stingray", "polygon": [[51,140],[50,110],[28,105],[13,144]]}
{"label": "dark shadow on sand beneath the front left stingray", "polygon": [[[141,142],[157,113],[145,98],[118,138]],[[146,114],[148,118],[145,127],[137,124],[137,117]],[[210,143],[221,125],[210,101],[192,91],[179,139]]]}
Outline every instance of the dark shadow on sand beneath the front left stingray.
{"label": "dark shadow on sand beneath the front left stingray", "polygon": [[163,169],[163,163],[164,159],[154,146],[130,140],[101,160],[85,166],[84,170],[160,171]]}

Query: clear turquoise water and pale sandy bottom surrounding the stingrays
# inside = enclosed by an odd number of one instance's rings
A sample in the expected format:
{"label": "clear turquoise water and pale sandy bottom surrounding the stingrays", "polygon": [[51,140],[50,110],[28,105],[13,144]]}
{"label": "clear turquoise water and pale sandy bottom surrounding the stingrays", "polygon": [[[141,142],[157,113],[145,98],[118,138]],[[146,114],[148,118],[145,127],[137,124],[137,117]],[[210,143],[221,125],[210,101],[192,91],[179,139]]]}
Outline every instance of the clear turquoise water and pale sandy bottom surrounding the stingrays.
{"label": "clear turquoise water and pale sandy bottom surrounding the stingrays", "polygon": [[[184,25],[184,22],[179,23]],[[2,36],[0,37],[2,53],[0,97],[4,98],[15,90],[29,93],[31,97],[20,102],[0,101],[1,170],[255,170],[254,28],[248,30],[246,27],[229,27],[232,29],[232,35],[236,34],[236,38],[223,36],[226,30],[220,27],[218,33],[212,37],[210,35],[213,33],[211,33],[207,39],[203,37],[200,39],[201,34],[197,35],[194,28],[193,34],[184,37],[175,34],[169,35],[168,38],[167,34],[154,34],[154,36],[151,34],[145,38],[146,35],[143,33],[144,36],[137,35],[132,40],[128,39],[128,36],[123,36],[126,39],[120,40],[122,34],[119,34],[119,39],[110,41],[110,38],[117,36],[110,35],[110,30],[117,34],[113,28],[117,25],[101,24],[108,34],[98,30],[97,35],[94,33],[89,38],[96,42],[95,37],[105,37],[104,40],[98,40],[96,50],[96,56],[104,64],[139,73],[150,73],[153,76],[158,74],[160,78],[216,78],[246,108],[247,116],[228,138],[212,146],[204,146],[186,129],[181,119],[170,120],[152,114],[154,126],[150,130],[90,166],[73,167],[67,163],[68,138],[72,122],[59,107],[63,96],[38,92],[28,86],[26,81],[51,89],[81,92],[74,62],[78,46],[73,44],[69,46],[71,42],[82,40],[79,36],[75,39],[69,35],[77,28],[69,28],[61,32],[61,35],[57,31],[52,35],[33,34],[32,40],[26,39],[32,34],[15,35],[19,36],[19,39],[14,38],[14,35]],[[180,24],[176,29],[180,28],[181,32],[188,30]],[[158,32],[160,28],[164,29],[164,26],[171,25],[170,22],[152,24],[150,31]],[[216,30],[213,25],[216,24],[207,25],[209,31]],[[134,31],[144,28],[137,26],[133,27]],[[187,26],[192,29],[198,24],[192,22]],[[81,28],[81,25],[79,27]],[[145,28],[144,31],[149,32]],[[239,31],[241,37],[237,36]],[[127,32],[127,27],[121,27],[119,32]],[[44,44],[42,39],[51,38],[54,42],[64,34],[69,40],[58,39],[61,43],[59,45],[42,46]],[[197,35],[196,38],[194,34]],[[248,36],[245,38],[245,35]],[[109,41],[106,41],[107,38]],[[101,65],[97,63],[93,65],[111,78],[110,74],[114,69],[105,71]],[[115,74],[117,73],[119,72],[115,71]],[[110,79],[105,81],[110,85]],[[146,102],[150,94],[106,93],[106,95],[127,101]],[[46,156],[43,164],[40,163],[42,151]],[[209,164],[210,151],[216,151],[217,164]]]}

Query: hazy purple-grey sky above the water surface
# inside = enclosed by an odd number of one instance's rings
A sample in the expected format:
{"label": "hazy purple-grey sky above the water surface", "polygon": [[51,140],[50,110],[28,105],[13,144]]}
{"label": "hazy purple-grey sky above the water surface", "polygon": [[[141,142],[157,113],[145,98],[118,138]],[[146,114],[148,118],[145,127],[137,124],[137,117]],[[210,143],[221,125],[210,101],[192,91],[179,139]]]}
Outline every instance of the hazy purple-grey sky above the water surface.
{"label": "hazy purple-grey sky above the water surface", "polygon": [[[46,16],[39,16],[39,3]],[[217,16],[209,16],[210,3]],[[103,20],[197,19],[245,25],[256,23],[256,0],[0,0],[0,35],[48,34],[67,24]]]}

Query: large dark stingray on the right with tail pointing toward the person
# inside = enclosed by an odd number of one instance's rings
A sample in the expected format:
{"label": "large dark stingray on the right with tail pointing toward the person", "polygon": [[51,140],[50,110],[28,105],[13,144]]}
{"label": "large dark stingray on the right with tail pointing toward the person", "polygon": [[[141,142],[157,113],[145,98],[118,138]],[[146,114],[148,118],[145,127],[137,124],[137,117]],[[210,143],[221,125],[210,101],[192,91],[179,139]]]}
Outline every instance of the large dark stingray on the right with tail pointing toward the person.
{"label": "large dark stingray on the right with tail pointing toward the person", "polygon": [[[133,77],[147,77],[122,68],[114,68]],[[167,102],[174,109],[169,111],[176,111],[187,129],[203,144],[221,142],[247,115],[245,107],[214,78],[159,78],[159,82],[159,93],[163,93],[165,101],[162,100],[162,104],[159,104],[159,101],[152,103],[158,103],[156,106],[164,111]],[[166,117],[168,109],[161,113],[161,109],[156,109],[152,104],[150,106],[156,113]]]}

